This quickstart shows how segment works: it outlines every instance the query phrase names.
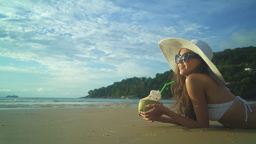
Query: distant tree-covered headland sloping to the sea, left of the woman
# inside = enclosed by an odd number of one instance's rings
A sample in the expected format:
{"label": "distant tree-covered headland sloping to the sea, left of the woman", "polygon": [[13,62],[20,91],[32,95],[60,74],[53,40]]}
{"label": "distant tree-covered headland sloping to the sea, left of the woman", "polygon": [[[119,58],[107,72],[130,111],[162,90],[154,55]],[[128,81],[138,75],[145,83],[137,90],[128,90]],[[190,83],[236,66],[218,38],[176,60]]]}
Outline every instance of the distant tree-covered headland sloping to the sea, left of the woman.
{"label": "distant tree-covered headland sloping to the sea, left of the woman", "polygon": [[[90,90],[86,98],[144,98],[151,90],[161,90],[164,84],[170,82],[172,76],[173,72],[170,70],[164,74],[156,74],[155,78],[126,78],[110,86]],[[166,98],[170,98],[170,95],[170,88],[162,92],[162,96]]]}

